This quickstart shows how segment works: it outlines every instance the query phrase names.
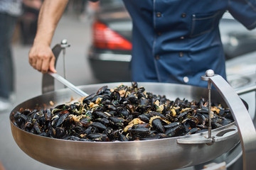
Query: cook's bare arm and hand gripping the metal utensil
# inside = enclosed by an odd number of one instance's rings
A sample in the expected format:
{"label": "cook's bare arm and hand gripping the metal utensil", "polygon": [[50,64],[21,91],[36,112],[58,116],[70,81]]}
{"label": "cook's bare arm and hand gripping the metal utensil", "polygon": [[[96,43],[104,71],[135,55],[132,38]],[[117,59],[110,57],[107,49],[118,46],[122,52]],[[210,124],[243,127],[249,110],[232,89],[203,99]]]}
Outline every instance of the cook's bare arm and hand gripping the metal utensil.
{"label": "cook's bare arm and hand gripping the metal utensil", "polygon": [[55,71],[55,57],[50,49],[55,28],[68,0],[44,0],[38,16],[38,30],[28,54],[29,64],[43,74]]}

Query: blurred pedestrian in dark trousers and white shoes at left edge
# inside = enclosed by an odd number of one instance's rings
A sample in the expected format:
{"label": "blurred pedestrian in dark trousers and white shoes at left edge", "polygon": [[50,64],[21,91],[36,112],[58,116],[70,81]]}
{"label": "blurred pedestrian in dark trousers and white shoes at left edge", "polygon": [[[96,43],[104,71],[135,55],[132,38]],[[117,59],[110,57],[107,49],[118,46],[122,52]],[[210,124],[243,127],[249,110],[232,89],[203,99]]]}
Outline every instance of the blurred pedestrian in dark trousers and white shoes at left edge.
{"label": "blurred pedestrian in dark trousers and white shoes at left edge", "polygon": [[14,94],[14,63],[11,42],[22,0],[0,0],[0,112],[11,106]]}

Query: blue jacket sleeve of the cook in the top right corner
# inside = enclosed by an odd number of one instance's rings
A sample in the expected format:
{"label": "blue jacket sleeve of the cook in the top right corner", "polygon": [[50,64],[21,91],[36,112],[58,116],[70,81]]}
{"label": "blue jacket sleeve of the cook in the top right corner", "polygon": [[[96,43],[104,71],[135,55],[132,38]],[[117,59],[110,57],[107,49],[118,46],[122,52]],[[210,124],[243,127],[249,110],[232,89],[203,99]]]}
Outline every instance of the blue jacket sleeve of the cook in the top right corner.
{"label": "blue jacket sleeve of the cook in the top right corner", "polygon": [[228,0],[228,11],[248,30],[256,27],[255,0]]}

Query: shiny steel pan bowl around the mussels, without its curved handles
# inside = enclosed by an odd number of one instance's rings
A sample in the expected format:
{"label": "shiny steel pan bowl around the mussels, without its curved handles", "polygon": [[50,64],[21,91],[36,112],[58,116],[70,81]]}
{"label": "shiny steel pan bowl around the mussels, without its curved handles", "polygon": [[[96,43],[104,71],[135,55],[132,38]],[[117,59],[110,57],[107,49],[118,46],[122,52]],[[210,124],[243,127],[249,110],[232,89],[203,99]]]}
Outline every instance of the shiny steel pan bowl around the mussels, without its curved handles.
{"label": "shiny steel pan bowl around the mussels, without its curved handles", "polygon": [[[103,85],[113,88],[119,84],[121,83],[92,84],[80,86],[80,89],[91,94]],[[130,83],[124,84],[131,85]],[[201,96],[206,97],[207,95],[207,89],[186,85],[139,83],[139,86],[144,86],[146,91],[151,91],[154,94],[165,94],[172,100],[177,97],[198,100]],[[34,108],[38,104],[52,107],[48,104],[49,101],[58,105],[70,101],[71,96],[79,98],[70,89],[49,92],[21,103],[14,108],[12,113],[20,108]],[[218,101],[225,106],[216,91],[212,91],[212,101]],[[14,140],[23,152],[39,162],[61,169],[178,169],[215,159],[215,157],[228,152],[239,142],[238,133],[233,133],[237,130],[234,123],[212,130],[213,135],[228,136],[225,140],[213,142],[212,145],[187,145],[177,142],[177,140],[193,140],[197,137],[203,139],[207,137],[207,132],[149,141],[78,142],[33,135],[17,128],[13,123],[11,123],[11,130]],[[230,132],[225,130],[230,130]]]}

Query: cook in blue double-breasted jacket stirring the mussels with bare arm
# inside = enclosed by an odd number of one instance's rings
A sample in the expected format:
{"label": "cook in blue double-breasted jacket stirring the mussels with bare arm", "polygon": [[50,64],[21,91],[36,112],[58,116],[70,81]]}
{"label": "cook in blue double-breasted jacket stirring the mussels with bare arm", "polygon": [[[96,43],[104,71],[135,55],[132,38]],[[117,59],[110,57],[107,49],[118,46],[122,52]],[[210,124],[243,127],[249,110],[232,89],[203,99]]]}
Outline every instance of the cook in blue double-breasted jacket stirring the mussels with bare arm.
{"label": "cook in blue double-breasted jacket stirring the mussels with bare arm", "polygon": [[[97,0],[95,0],[97,1]],[[254,0],[123,0],[132,17],[132,81],[206,86],[207,69],[225,75],[218,24],[230,12],[247,29],[256,26]],[[68,0],[45,0],[29,63],[45,74],[56,72],[50,49]]]}

